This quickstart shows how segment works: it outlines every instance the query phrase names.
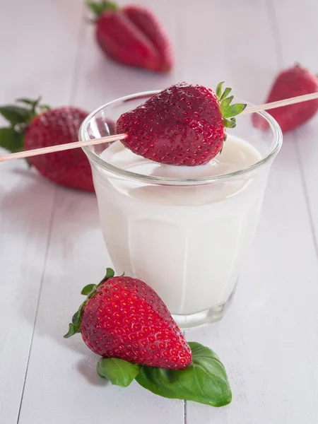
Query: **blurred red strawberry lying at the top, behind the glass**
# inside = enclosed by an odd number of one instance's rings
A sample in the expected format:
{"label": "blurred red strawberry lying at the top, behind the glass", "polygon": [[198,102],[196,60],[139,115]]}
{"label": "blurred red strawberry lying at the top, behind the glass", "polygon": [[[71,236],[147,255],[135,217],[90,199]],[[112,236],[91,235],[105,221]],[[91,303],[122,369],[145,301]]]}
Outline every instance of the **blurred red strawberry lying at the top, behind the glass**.
{"label": "blurred red strawberry lying at the top, behind the glass", "polygon": [[172,68],[170,42],[153,13],[141,6],[118,8],[110,1],[88,6],[96,16],[96,39],[119,63],[167,72]]}

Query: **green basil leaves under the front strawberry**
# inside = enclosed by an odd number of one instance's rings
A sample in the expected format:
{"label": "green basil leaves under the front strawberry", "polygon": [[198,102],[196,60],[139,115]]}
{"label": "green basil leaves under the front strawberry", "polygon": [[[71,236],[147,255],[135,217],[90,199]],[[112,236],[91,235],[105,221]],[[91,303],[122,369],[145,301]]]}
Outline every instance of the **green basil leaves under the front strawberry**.
{"label": "green basil leaves under the front strawberry", "polygon": [[216,407],[230,404],[232,391],[218,355],[200,343],[190,341],[189,346],[192,364],[186,370],[166,370],[101,358],[98,375],[120,387],[128,387],[135,379],[144,389],[168,399],[184,399]]}

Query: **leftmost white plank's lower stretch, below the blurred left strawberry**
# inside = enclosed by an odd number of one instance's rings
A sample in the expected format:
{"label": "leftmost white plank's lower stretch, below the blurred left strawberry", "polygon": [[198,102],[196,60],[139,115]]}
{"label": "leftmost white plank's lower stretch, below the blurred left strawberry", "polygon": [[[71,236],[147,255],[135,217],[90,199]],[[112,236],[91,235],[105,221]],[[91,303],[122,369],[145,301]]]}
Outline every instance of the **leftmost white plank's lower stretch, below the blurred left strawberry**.
{"label": "leftmost white plank's lower stretch, below the blurred left strawberry", "polygon": [[0,175],[0,422],[13,424],[28,363],[55,187],[24,163],[5,163]]}

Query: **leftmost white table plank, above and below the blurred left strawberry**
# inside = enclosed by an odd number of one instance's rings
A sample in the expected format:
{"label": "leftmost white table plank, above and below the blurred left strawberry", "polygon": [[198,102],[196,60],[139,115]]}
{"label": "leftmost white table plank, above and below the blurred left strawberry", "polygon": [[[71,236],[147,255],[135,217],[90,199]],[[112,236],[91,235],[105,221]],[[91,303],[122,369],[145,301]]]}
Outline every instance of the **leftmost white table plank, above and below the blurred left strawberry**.
{"label": "leftmost white table plank, above and below the blurred left strawberry", "polygon": [[[52,105],[69,102],[80,13],[76,0],[1,6],[1,105],[39,94]],[[55,190],[25,161],[1,163],[1,423],[18,419]]]}

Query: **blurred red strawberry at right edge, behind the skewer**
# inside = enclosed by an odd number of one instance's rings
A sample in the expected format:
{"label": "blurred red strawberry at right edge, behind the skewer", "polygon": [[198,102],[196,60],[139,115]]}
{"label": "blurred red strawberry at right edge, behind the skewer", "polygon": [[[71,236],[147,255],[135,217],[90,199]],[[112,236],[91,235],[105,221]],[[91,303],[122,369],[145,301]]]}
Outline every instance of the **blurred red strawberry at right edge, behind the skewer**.
{"label": "blurred red strawberry at right edge, behind the skewer", "polygon": [[[316,93],[318,91],[318,78],[313,73],[300,65],[285,69],[278,74],[266,103],[288,99],[302,94]],[[316,114],[318,100],[297,103],[269,110],[269,114],[276,119],[283,132],[290,131],[296,126],[305,124]],[[254,126],[261,129],[268,128],[269,124],[259,114],[253,114]]]}

